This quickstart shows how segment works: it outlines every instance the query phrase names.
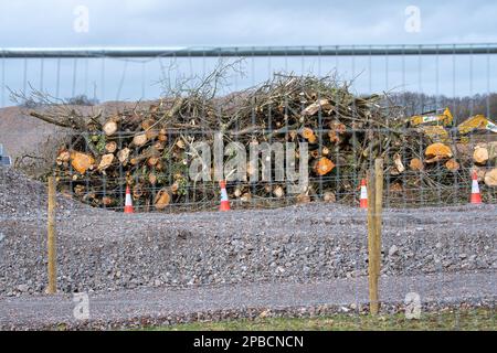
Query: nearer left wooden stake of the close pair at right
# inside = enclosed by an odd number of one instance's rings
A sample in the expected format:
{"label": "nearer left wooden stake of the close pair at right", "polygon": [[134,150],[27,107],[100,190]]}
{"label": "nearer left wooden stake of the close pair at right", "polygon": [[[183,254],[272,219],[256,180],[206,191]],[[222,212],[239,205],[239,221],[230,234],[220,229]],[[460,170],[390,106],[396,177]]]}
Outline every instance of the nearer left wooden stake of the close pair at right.
{"label": "nearer left wooden stake of the close pair at right", "polygon": [[369,308],[371,314],[378,313],[378,281],[377,281],[377,259],[376,259],[376,183],[374,173],[368,172],[368,275],[369,275]]}

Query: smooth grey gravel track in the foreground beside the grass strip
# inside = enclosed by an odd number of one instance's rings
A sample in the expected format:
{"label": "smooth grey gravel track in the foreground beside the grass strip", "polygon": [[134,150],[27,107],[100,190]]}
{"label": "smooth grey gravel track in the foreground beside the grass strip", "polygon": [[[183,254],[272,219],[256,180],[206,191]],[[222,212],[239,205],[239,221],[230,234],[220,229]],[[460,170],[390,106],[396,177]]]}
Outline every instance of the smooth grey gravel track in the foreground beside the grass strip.
{"label": "smooth grey gravel track in the foreground beside the grass strip", "polygon": [[[409,292],[417,292],[422,310],[484,306],[494,308],[495,272],[384,277],[380,280],[381,312],[405,309]],[[315,284],[248,284],[189,289],[142,288],[88,295],[88,314],[76,320],[68,295],[0,300],[0,329],[116,329],[202,320],[264,317],[313,317],[368,308],[366,278]],[[77,310],[76,310],[77,312]]]}

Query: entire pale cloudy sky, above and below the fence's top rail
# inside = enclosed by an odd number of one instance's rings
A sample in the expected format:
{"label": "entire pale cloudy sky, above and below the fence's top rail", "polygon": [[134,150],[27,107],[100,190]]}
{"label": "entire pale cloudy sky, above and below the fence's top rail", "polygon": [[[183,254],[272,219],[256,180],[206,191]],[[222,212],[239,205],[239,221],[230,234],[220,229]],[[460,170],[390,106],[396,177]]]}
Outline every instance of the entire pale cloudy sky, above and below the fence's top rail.
{"label": "entire pale cloudy sky, above and below the fence's top rail", "polygon": [[[412,9],[419,10],[419,18]],[[0,47],[496,43],[496,15],[497,1],[482,0],[0,0]],[[315,72],[319,66],[329,72],[338,66],[345,78],[362,73],[357,87],[360,92],[402,86],[464,95],[497,88],[488,78],[497,71],[495,57],[443,57],[438,62],[410,57],[403,73],[399,58],[389,60],[374,58],[373,67],[368,58],[324,58],[322,63],[290,58],[285,64],[277,58],[269,63],[260,60],[246,79],[265,78],[262,71],[265,75],[271,69],[296,67]],[[64,60],[59,92],[65,96],[93,92],[101,99],[156,96],[159,64],[112,61],[102,75],[99,62]],[[211,64],[183,61],[179,71],[198,74]],[[4,85],[22,88],[28,81],[55,90],[53,60],[41,64],[7,60],[2,65]],[[435,76],[438,82],[434,82]],[[243,86],[240,82],[234,85]]]}

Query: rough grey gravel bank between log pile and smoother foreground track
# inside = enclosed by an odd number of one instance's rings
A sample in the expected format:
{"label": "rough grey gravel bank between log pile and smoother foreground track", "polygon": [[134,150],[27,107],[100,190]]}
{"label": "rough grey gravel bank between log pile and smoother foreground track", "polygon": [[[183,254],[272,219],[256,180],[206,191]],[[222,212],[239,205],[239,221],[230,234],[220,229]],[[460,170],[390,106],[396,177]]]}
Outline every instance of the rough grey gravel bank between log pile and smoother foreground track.
{"label": "rough grey gravel bank between log pile and smoother foreground track", "polygon": [[[0,176],[0,300],[29,303],[46,285],[45,190],[11,169]],[[367,275],[366,213],[339,204],[128,215],[59,196],[56,227],[62,293],[285,282],[303,291]],[[382,277],[494,276],[496,229],[495,204],[385,210]]]}

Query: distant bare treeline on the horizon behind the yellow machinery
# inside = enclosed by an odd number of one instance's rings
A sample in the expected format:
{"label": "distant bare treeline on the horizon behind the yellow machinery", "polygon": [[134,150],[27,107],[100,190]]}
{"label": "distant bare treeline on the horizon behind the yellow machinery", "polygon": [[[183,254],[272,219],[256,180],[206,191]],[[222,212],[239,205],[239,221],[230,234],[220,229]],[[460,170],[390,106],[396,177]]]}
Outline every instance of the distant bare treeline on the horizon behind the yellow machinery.
{"label": "distant bare treeline on the horizon behind the yellow machinery", "polygon": [[394,94],[390,98],[395,105],[404,106],[405,114],[410,116],[448,107],[456,124],[476,114],[483,114],[494,121],[497,118],[497,93],[451,98],[405,92]]}

